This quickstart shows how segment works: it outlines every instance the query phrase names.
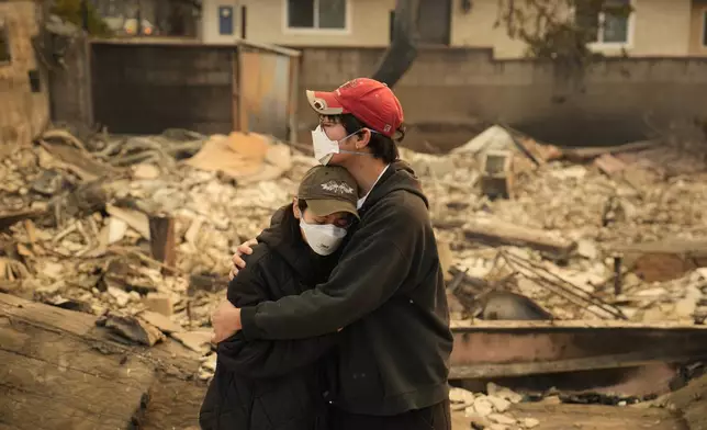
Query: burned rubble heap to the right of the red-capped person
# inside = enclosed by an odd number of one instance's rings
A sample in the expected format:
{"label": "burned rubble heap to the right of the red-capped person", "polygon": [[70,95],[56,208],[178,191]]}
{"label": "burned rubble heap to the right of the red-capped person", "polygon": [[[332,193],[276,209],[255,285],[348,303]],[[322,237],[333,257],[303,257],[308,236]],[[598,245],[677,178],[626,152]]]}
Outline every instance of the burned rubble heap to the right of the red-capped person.
{"label": "burned rubble heap to the right of the red-capped person", "polygon": [[707,315],[704,157],[660,142],[560,149],[494,126],[403,158],[431,202],[454,318],[496,291],[560,319]]}

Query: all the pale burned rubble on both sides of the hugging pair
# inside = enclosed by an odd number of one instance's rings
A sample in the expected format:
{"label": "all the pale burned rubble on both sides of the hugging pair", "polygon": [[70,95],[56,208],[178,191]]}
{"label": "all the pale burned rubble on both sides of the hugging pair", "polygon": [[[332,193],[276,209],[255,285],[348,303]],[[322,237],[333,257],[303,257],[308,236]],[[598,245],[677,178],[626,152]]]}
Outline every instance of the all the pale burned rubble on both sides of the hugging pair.
{"label": "all the pale burned rubble on both sides of the hugging pair", "polygon": [[[203,354],[209,380],[229,257],[314,165],[295,147],[49,129],[0,162],[0,291],[98,315],[135,343],[170,337]],[[537,307],[516,319],[707,316],[704,158],[653,142],[560,149],[500,126],[401,155],[429,196],[452,319],[513,319],[484,309],[504,292]],[[453,408],[478,428],[537,426],[505,414],[519,399],[504,389],[456,388]]]}

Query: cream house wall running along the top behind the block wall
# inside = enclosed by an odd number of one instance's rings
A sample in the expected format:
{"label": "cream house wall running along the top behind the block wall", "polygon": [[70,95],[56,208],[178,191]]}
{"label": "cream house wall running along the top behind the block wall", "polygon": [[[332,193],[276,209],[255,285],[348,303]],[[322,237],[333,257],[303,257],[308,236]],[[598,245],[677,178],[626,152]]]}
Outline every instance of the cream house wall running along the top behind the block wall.
{"label": "cream house wall running along the top behind the block wall", "polygon": [[[695,34],[702,31],[704,5],[707,4],[707,0],[613,1],[630,1],[635,12],[626,22],[615,21],[613,30],[601,30],[593,48],[606,55],[643,57],[689,55],[691,45],[696,45],[691,39],[698,37],[691,36],[691,29]],[[694,8],[695,3],[700,7]],[[492,48],[496,58],[525,55],[523,42],[508,37],[503,25],[494,25],[498,18],[497,0],[473,0],[470,4],[467,9],[462,2],[451,0],[451,46]],[[218,8],[223,5],[233,7],[233,34],[220,32]],[[299,8],[295,13],[291,10],[293,5]],[[390,43],[395,0],[203,0],[203,41],[229,43],[238,39],[240,7],[246,7],[246,38],[252,42],[294,47],[385,47]],[[696,22],[695,13],[699,13],[703,21]],[[607,20],[606,16],[599,19]],[[693,55],[699,52],[693,46]]]}

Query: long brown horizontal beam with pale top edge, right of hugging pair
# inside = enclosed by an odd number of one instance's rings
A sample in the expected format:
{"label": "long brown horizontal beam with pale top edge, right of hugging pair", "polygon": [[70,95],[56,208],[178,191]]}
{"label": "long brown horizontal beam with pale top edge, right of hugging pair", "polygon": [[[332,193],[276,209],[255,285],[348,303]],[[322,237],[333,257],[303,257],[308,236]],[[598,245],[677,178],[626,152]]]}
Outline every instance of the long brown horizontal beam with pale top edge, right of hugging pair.
{"label": "long brown horizontal beam with pale top edge, right of hugging pair", "polygon": [[596,321],[474,321],[452,326],[450,378],[629,367],[707,358],[707,327]]}

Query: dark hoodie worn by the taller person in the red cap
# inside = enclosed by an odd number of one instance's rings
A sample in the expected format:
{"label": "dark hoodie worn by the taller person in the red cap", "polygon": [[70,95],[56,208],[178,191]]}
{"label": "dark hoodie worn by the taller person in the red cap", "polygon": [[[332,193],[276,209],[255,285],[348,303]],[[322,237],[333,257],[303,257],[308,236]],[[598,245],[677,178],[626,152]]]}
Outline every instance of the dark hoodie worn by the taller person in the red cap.
{"label": "dark hoodie worn by the taller person in the red cap", "polygon": [[340,332],[330,400],[349,412],[397,415],[448,398],[452,336],[427,199],[391,165],[359,211],[329,280],[242,312],[247,339]]}

